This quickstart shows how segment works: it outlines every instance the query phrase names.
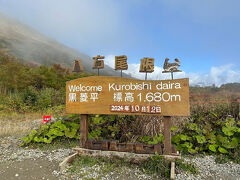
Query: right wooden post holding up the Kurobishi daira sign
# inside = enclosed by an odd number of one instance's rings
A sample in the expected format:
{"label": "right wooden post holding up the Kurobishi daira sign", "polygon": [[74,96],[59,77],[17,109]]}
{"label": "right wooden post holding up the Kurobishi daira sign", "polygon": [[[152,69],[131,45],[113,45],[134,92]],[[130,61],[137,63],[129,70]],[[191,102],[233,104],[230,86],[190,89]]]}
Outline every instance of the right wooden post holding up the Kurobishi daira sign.
{"label": "right wooden post holding up the Kurobishi daira sign", "polygon": [[164,123],[164,154],[170,155],[172,153],[171,147],[171,116],[164,116],[163,117]]}

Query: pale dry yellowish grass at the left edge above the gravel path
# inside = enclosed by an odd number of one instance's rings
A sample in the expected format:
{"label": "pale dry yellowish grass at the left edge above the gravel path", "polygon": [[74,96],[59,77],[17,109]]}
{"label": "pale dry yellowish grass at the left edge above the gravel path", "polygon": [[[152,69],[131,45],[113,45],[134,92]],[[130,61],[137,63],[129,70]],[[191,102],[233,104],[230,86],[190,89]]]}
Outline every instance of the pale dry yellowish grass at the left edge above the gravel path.
{"label": "pale dry yellowish grass at the left edge above the gravel path", "polygon": [[36,113],[0,114],[0,137],[26,135],[36,126],[37,119],[39,119],[39,124],[41,123],[41,118],[42,115]]}

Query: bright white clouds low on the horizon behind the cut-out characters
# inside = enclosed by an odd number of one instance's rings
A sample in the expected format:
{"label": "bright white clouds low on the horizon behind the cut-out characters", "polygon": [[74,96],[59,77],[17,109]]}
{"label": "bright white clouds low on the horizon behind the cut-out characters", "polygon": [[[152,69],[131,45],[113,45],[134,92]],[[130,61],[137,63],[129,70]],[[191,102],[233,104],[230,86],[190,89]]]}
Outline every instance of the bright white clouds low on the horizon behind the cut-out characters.
{"label": "bright white clouds low on the horizon behind the cut-out characters", "polygon": [[[114,68],[115,56],[109,55],[105,57],[105,63]],[[137,79],[144,79],[145,73],[139,72],[140,64],[128,64],[128,70],[125,73]],[[165,80],[170,79],[170,74],[162,73],[163,68],[159,66],[154,67],[154,72],[148,74],[149,80]],[[227,64],[223,66],[212,67],[207,74],[201,73],[174,73],[174,79],[189,78],[190,85],[209,86],[215,84],[221,86],[226,83],[240,82],[240,70],[235,70],[234,65]]]}

